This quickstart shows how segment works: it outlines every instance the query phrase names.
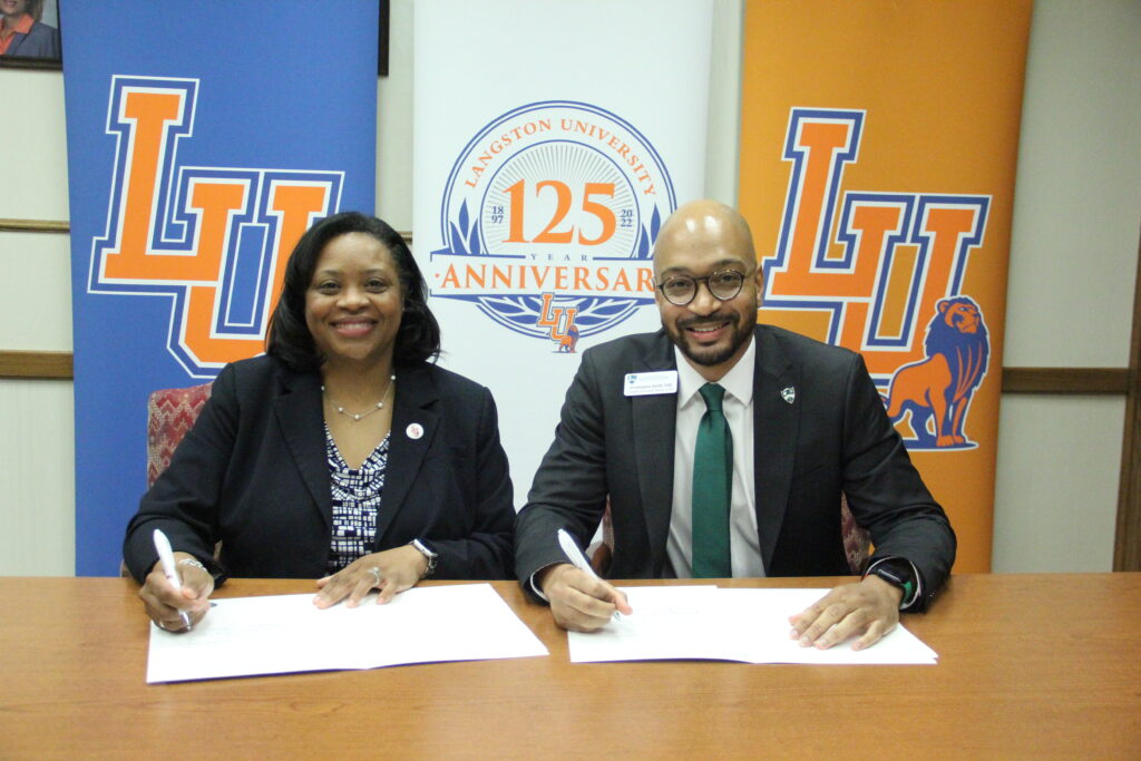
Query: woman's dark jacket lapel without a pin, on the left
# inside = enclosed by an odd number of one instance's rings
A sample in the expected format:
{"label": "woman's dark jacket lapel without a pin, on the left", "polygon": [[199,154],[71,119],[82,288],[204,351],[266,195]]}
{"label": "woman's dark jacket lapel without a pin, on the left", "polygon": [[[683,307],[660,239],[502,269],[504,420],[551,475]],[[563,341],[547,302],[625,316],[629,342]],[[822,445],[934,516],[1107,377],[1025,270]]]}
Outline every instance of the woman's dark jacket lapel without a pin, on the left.
{"label": "woman's dark jacket lapel without a pin, on the left", "polygon": [[316,373],[286,370],[282,373],[281,387],[282,392],[274,398],[273,405],[285,445],[325,527],[331,528],[333,507],[323,435],[325,419],[321,410],[321,378]]}

